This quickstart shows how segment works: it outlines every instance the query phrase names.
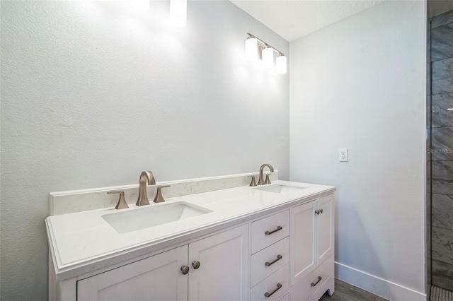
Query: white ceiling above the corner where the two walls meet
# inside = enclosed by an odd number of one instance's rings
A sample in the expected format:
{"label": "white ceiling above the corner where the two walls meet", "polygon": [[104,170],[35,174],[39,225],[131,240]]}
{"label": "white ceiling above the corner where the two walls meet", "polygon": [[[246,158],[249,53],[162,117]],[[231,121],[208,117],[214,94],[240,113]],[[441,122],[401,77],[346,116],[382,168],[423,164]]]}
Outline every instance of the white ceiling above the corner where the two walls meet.
{"label": "white ceiling above the corner where the two walls meet", "polygon": [[384,0],[230,0],[288,42]]}

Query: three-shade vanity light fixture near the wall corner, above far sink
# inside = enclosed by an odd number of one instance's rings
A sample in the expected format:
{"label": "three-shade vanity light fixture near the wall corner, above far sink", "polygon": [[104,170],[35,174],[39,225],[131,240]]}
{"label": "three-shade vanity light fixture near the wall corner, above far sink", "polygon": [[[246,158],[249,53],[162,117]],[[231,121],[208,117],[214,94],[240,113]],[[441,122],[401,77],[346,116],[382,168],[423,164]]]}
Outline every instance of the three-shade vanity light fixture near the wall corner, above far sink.
{"label": "three-shade vanity light fixture near the wall corner, above far sink", "polygon": [[254,61],[258,58],[263,60],[264,68],[271,68],[274,66],[274,52],[277,52],[278,57],[275,60],[275,72],[277,74],[287,73],[287,57],[285,54],[270,46],[263,40],[258,39],[255,35],[247,33],[246,40],[246,60]]}

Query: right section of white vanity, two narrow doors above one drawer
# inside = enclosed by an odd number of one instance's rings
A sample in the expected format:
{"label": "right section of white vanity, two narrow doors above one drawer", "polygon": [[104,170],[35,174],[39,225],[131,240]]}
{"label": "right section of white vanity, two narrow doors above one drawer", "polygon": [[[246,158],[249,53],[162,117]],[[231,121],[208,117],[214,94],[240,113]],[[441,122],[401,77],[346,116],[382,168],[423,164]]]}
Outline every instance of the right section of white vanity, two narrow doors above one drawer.
{"label": "right section of white vanity, two narrow doors above one drawer", "polygon": [[333,293],[333,194],[289,212],[289,299],[318,300]]}

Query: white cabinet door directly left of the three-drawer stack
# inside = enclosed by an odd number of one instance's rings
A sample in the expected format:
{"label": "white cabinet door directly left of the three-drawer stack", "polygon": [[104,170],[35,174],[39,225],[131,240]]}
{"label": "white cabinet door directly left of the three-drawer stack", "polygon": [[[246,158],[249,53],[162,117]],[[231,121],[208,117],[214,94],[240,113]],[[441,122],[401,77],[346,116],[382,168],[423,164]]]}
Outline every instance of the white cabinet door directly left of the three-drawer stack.
{"label": "white cabinet door directly left of the three-drawer stack", "polygon": [[247,300],[248,225],[189,244],[189,266],[189,300]]}

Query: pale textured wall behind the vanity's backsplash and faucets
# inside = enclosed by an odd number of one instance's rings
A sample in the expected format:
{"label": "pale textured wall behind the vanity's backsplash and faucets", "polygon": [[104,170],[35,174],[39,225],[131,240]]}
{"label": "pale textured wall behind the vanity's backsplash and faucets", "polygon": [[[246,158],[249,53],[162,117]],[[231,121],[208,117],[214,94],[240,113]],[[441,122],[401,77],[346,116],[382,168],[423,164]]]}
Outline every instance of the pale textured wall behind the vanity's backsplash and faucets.
{"label": "pale textured wall behind the vanity's backsplash and faucets", "polygon": [[127,1],[1,1],[1,300],[47,298],[50,191],[258,171],[289,178],[289,75],[243,57],[281,37],[229,1],[188,25]]}

